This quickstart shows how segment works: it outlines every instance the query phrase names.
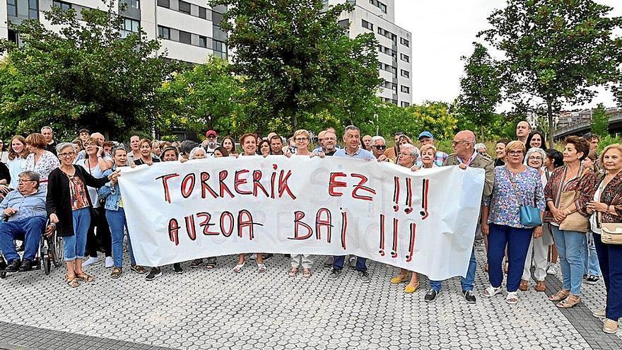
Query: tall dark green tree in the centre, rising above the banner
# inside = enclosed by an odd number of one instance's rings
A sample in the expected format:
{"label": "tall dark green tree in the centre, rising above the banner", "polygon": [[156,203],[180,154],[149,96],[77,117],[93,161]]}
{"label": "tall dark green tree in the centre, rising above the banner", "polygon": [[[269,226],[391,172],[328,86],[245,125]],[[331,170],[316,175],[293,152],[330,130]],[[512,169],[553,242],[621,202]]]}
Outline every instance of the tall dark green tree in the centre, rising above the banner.
{"label": "tall dark green tree in the centre, rising above the banner", "polygon": [[351,4],[324,11],[321,0],[212,0],[226,5],[222,27],[235,51],[232,68],[245,76],[249,115],[280,132],[305,127],[328,112],[341,123],[372,117],[378,78],[372,33],[355,39],[338,23]]}

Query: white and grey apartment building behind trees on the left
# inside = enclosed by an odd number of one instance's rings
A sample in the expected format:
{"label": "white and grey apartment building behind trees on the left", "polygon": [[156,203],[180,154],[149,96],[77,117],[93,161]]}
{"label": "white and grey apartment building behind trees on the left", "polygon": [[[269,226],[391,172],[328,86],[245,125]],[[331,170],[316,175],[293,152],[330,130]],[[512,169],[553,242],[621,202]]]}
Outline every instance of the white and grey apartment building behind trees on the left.
{"label": "white and grey apartment building behind trees on the left", "polygon": [[[183,62],[203,63],[206,57],[214,55],[228,58],[226,33],[219,24],[225,6],[211,8],[206,0],[118,0],[127,4],[122,16],[125,18],[126,33],[136,33],[143,28],[148,39],[160,37],[162,50],[168,51],[168,58]],[[64,10],[73,8],[81,13],[83,8],[105,9],[100,0],[4,0],[0,3],[0,36],[18,42],[11,23],[25,19],[37,19],[49,28],[44,11],[52,6]],[[118,3],[115,8],[119,8]]]}

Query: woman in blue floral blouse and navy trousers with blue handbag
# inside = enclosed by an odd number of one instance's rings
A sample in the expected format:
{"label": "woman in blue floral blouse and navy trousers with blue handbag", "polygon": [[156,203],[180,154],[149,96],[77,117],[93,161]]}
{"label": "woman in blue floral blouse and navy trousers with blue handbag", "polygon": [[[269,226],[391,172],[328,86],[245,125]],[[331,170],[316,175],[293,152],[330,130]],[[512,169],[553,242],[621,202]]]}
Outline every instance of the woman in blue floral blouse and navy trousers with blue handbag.
{"label": "woman in blue floral blouse and navy trousers with blue handbag", "polygon": [[525,146],[512,141],[506,147],[506,163],[495,168],[495,185],[491,197],[484,200],[481,211],[481,233],[488,235],[488,278],[491,285],[483,291],[487,297],[500,293],[503,282],[501,263],[507,246],[507,297],[509,304],[518,302],[517,289],[522,276],[529,243],[542,235],[542,226],[522,222],[520,206],[535,207],[540,218],[544,213],[544,193],[538,170],[522,163]]}

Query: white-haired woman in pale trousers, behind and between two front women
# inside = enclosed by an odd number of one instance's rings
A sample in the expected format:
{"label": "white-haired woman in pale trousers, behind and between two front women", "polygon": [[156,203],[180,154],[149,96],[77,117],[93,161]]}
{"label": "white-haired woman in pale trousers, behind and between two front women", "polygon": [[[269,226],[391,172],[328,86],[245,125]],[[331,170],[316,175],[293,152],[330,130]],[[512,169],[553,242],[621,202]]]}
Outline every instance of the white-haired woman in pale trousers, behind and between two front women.
{"label": "white-haired woman in pale trousers, behind and between two front women", "polygon": [[[529,148],[525,160],[527,166],[534,168],[538,171],[542,187],[546,186],[547,177],[544,173],[544,159],[546,159],[546,153],[542,148]],[[532,277],[532,254],[534,257],[534,279],[536,280],[536,291],[544,291],[546,286],[544,285],[544,278],[546,277],[546,254],[548,252],[548,246],[553,244],[553,236],[551,235],[551,228],[548,223],[542,226],[542,236],[539,238],[532,238],[527,249],[527,258],[525,259],[524,269],[522,271],[522,279],[520,281],[519,289],[521,291],[529,290],[529,279]]]}

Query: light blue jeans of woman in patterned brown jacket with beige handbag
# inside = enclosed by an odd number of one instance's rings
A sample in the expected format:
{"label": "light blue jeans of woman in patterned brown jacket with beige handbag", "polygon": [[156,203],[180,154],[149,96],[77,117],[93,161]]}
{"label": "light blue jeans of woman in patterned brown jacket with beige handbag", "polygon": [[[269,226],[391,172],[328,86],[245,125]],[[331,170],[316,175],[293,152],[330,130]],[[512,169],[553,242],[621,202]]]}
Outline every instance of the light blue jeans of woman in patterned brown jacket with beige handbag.
{"label": "light blue jeans of woman in patterned brown jacket with beige handbag", "polygon": [[559,265],[563,276],[563,289],[573,294],[581,295],[581,281],[583,279],[583,245],[585,233],[575,231],[561,231],[558,226],[551,225],[555,246],[559,255]]}

